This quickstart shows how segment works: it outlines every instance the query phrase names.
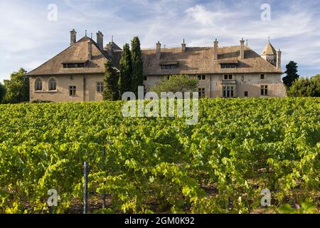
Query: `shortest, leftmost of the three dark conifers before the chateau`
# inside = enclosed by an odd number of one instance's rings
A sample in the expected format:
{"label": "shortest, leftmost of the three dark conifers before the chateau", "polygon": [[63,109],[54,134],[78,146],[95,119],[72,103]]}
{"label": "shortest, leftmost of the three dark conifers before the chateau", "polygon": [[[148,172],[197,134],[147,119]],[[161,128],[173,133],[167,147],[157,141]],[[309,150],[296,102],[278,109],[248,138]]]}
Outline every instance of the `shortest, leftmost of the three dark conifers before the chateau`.
{"label": "shortest, leftmost of the three dark conifers before the chateau", "polygon": [[119,100],[119,76],[110,61],[105,63],[105,77],[103,78],[103,100]]}

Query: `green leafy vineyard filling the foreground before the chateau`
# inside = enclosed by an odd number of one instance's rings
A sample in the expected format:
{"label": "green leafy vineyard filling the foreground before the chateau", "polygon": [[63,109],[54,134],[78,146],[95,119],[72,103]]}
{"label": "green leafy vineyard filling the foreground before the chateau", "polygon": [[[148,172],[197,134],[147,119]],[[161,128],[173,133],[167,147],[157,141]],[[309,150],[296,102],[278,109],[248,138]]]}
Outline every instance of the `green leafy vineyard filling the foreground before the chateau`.
{"label": "green leafy vineyard filling the foreground before the chateau", "polygon": [[[199,120],[123,118],[123,103],[0,105],[0,213],[320,212],[320,99],[203,99]],[[105,147],[105,157],[102,150]],[[262,190],[271,206],[262,207]]]}

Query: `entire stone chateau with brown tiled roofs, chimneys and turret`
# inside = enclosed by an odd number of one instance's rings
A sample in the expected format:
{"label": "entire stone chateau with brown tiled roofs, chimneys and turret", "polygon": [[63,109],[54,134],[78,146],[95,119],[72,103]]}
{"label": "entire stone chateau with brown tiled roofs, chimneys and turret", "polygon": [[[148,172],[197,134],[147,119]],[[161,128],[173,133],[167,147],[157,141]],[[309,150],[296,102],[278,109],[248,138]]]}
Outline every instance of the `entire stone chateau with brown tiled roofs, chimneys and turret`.
{"label": "entire stone chateau with brown tiled roofs, chimneys and turret", "polygon": [[[30,99],[53,102],[102,100],[105,62],[119,71],[122,49],[111,41],[103,44],[84,36],[79,41],[70,32],[70,46],[43,65],[28,73]],[[213,41],[210,47],[187,47],[142,50],[144,86],[149,91],[158,81],[174,74],[199,80],[199,95],[207,98],[284,97],[281,76],[281,51],[270,41],[259,55],[245,41],[238,46],[222,47]]]}

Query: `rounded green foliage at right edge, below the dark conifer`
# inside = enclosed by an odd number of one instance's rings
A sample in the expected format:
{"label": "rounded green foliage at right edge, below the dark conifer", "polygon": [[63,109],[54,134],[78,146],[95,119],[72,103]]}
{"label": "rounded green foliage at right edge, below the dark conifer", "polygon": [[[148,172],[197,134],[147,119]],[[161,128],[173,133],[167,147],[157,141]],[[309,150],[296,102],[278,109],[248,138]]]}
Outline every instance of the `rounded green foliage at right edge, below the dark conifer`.
{"label": "rounded green foliage at right edge, below the dark conifer", "polygon": [[311,78],[299,78],[287,91],[290,97],[320,97],[320,74]]}

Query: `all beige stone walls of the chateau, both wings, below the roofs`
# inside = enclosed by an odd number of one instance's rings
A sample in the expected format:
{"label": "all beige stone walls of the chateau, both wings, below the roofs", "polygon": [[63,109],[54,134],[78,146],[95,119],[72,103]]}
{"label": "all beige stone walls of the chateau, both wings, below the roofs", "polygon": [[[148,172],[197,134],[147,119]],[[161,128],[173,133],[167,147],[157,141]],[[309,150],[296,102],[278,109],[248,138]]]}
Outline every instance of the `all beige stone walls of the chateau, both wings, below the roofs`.
{"label": "all beige stone walls of the chateau, both wings, below the roofs", "polygon": [[[196,76],[197,77],[197,76]],[[54,78],[57,82],[57,90],[49,91],[49,81]],[[42,81],[42,90],[36,91],[35,82]],[[158,81],[164,80],[165,76],[148,76],[144,81],[146,91]],[[53,102],[80,102],[80,101],[102,101],[102,93],[97,92],[97,83],[103,82],[102,74],[69,75],[59,76],[31,76],[30,77],[30,100],[50,100]],[[76,95],[69,95],[69,86],[76,86]],[[279,74],[265,74],[261,79],[260,74],[234,74],[232,80],[224,80],[224,75],[206,75],[206,80],[199,81],[199,88],[205,88],[207,98],[220,98],[223,96],[223,86],[234,87],[234,97],[261,97],[261,86],[268,86],[269,97],[285,97],[286,89]]]}

